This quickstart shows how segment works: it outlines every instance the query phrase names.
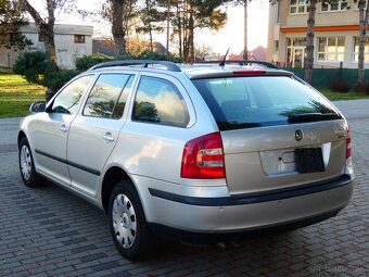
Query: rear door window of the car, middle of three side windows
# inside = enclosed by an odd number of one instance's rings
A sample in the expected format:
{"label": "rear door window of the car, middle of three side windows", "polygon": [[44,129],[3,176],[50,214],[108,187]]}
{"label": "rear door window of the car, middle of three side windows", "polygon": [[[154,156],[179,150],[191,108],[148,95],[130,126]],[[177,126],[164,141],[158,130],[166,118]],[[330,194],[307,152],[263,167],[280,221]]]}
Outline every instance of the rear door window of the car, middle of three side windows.
{"label": "rear door window of the car, middle of three side windows", "polygon": [[82,114],[96,117],[122,117],[131,84],[128,81],[130,75],[123,74],[100,75],[87,99]]}

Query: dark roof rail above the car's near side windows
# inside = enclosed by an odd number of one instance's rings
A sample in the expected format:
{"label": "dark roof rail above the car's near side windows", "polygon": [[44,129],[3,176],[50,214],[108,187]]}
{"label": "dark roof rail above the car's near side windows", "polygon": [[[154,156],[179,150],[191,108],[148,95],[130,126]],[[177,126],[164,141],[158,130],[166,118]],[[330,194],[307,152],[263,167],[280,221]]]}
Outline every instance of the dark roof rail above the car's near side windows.
{"label": "dark roof rail above the car's near side windows", "polygon": [[129,66],[129,65],[140,65],[142,64],[142,67],[148,67],[149,64],[160,64],[165,66],[168,71],[171,72],[180,72],[180,67],[175,64],[174,62],[167,62],[167,61],[154,61],[154,60],[124,60],[124,61],[110,61],[110,62],[103,62],[98,63],[93,66],[91,66],[88,71],[93,71],[98,68],[103,67],[110,67],[110,66]]}

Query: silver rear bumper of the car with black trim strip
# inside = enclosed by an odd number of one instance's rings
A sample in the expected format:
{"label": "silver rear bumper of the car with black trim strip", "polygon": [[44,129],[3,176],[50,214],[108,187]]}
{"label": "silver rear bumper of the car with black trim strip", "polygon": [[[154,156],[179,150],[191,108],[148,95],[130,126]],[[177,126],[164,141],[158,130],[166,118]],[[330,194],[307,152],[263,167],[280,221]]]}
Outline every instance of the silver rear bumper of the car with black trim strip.
{"label": "silver rear bumper of the car with black trim strip", "polygon": [[203,234],[243,232],[293,225],[333,216],[348,204],[353,188],[349,175],[307,188],[244,198],[184,197],[150,188],[151,211],[155,211],[156,215],[151,218],[154,221],[148,221],[154,227]]}

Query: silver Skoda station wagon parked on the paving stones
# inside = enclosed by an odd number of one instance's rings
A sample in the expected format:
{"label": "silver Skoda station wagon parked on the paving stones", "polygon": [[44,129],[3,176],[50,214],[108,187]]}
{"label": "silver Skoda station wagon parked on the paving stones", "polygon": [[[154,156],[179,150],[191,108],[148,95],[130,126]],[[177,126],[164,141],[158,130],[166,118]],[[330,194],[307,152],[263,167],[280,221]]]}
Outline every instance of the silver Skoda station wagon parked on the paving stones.
{"label": "silver Skoda station wagon parked on the paving stones", "polygon": [[106,211],[130,260],[158,237],[317,223],[352,197],[347,122],[265,62],[102,63],[30,111],[17,138],[25,185],[49,179]]}

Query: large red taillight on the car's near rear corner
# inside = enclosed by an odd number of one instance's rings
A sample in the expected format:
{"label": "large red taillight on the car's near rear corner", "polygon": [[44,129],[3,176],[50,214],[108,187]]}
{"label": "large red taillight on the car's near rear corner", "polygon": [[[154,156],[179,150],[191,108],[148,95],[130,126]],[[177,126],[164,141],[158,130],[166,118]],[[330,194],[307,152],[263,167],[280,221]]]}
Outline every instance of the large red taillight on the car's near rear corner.
{"label": "large red taillight on the car's near rear corner", "polygon": [[188,141],[182,154],[182,178],[225,178],[225,155],[220,133]]}

